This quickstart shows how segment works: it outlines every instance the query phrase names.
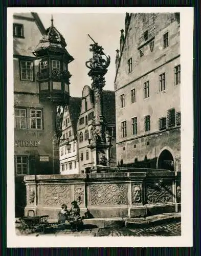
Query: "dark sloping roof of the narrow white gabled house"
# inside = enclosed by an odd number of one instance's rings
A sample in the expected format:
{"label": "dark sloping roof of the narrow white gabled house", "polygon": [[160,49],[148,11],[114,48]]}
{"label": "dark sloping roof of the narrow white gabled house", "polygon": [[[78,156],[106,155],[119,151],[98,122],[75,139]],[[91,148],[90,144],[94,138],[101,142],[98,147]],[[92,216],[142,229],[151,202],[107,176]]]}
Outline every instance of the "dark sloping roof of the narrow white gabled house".
{"label": "dark sloping roof of the narrow white gabled house", "polygon": [[74,137],[77,134],[77,121],[80,114],[82,98],[79,97],[70,97],[70,103],[68,106],[71,123],[73,127]]}

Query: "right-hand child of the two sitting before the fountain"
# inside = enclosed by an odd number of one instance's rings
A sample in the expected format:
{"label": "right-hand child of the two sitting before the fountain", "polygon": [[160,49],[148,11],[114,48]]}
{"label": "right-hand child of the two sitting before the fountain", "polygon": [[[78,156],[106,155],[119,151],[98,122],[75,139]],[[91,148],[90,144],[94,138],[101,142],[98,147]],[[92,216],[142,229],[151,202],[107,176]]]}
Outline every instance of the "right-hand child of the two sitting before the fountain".
{"label": "right-hand child of the two sitting before the fountain", "polygon": [[71,203],[68,221],[71,224],[72,231],[78,231],[79,227],[83,224],[80,217],[80,207],[78,206],[76,201],[73,201]]}

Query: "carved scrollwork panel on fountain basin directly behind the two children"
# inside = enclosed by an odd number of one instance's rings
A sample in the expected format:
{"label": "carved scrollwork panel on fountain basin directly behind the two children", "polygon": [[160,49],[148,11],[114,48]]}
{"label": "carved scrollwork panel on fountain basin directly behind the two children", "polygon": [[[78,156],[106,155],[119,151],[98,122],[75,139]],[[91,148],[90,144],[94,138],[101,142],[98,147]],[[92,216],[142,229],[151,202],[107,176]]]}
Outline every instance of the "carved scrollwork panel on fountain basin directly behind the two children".
{"label": "carved scrollwork panel on fountain basin directly behind the two children", "polygon": [[70,185],[42,185],[40,189],[40,201],[43,205],[61,206],[70,205],[71,190]]}

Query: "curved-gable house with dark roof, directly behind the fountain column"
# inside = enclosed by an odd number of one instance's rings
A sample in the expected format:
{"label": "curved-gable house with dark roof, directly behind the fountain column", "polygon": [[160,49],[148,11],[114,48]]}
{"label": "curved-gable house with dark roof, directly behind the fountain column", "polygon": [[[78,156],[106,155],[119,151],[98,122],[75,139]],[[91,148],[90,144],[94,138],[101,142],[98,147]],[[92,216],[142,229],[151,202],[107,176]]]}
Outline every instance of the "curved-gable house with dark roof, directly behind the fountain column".
{"label": "curved-gable house with dark roof, directly behind the fountain column", "polygon": [[[106,124],[105,132],[112,136],[109,150],[109,165],[116,165],[116,124],[115,124],[115,92],[103,91],[103,116]],[[92,132],[92,122],[94,120],[94,92],[89,86],[85,86],[82,91],[82,102],[77,122],[78,137],[78,162],[79,172],[83,173],[94,167],[93,154],[87,146],[88,139]]]}

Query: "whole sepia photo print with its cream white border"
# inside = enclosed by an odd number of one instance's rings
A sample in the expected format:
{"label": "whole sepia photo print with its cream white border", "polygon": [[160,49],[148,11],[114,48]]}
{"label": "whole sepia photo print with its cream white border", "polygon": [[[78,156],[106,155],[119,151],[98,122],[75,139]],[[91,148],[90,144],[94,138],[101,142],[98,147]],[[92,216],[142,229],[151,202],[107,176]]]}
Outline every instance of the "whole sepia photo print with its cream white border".
{"label": "whole sepia photo print with its cream white border", "polygon": [[193,8],[69,9],[8,8],[9,244],[190,246]]}

